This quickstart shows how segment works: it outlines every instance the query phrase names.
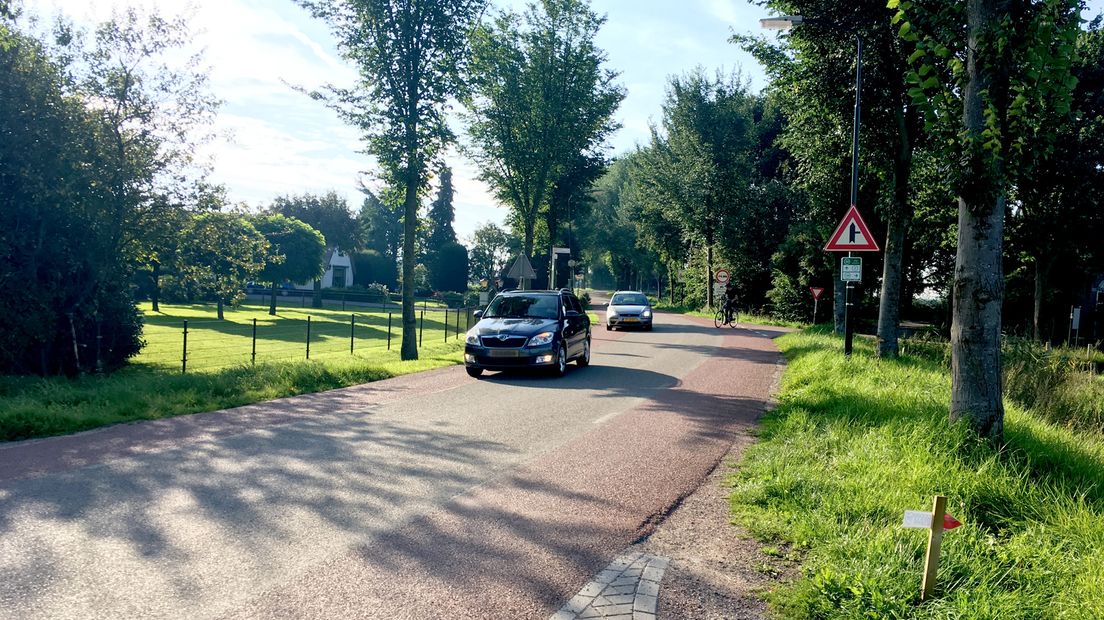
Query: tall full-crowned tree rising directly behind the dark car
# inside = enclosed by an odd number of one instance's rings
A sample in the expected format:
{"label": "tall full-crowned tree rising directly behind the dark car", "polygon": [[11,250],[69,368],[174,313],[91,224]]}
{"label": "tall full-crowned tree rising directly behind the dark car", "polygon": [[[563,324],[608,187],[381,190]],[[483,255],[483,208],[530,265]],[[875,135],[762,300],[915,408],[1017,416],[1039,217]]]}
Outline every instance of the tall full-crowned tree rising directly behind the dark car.
{"label": "tall full-crowned tree rising directly behind the dark car", "polygon": [[603,23],[585,0],[542,0],[523,17],[500,13],[474,38],[473,156],[480,178],[511,206],[527,256],[542,209],[554,238],[553,188],[618,127],[612,117],[625,93],[594,44]]}

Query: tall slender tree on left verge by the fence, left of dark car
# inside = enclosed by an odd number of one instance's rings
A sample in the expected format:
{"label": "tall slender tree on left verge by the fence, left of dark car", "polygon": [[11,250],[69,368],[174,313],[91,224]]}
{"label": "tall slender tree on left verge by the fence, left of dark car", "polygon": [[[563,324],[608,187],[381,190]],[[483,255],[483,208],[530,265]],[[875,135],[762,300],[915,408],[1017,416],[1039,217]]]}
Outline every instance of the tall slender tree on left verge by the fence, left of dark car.
{"label": "tall slender tree on left verge by the fence, left of dark car", "polygon": [[[360,128],[385,181],[403,192],[402,359],[417,359],[414,316],[418,196],[428,167],[453,141],[445,111],[465,89],[468,35],[486,0],[299,0],[329,22],[346,58],[357,63],[355,88],[329,88],[329,101]],[[326,98],[322,94],[316,94]]]}

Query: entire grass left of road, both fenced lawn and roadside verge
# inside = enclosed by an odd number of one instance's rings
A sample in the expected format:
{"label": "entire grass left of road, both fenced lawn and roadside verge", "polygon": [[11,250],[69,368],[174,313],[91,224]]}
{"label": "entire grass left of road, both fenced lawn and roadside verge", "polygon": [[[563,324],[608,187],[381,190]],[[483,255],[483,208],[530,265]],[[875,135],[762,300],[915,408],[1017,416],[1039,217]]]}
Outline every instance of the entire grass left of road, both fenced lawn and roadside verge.
{"label": "entire grass left of road, both fenced lawn and roadside verge", "polygon": [[[296,394],[379,381],[461,363],[463,333],[450,320],[445,342],[442,312],[426,312],[424,345],[415,362],[400,361],[401,327],[386,313],[358,314],[349,353],[349,312],[265,308],[226,311],[213,319],[206,306],[167,306],[147,316],[146,349],[130,366],[104,376],[0,377],[0,441],[63,435],[100,426],[210,411]],[[306,360],[306,316],[311,316],[311,359]],[[455,317],[455,312],[452,313]],[[257,319],[257,364],[251,363]],[[189,321],[188,373],[180,372],[182,323]]]}

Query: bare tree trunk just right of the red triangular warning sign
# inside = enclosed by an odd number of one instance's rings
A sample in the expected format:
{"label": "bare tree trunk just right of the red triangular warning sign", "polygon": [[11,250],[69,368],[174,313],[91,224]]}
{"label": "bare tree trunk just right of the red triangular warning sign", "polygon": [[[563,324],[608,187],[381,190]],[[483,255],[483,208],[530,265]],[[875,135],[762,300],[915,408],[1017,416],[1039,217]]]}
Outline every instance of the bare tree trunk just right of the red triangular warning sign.
{"label": "bare tree trunk just right of the red triangular warning sign", "polygon": [[894,110],[898,125],[898,151],[893,159],[893,207],[885,232],[882,266],[882,292],[878,307],[878,356],[898,356],[901,324],[901,286],[904,280],[904,245],[912,223],[909,179],[912,174],[912,142],[909,118],[900,107]]}

